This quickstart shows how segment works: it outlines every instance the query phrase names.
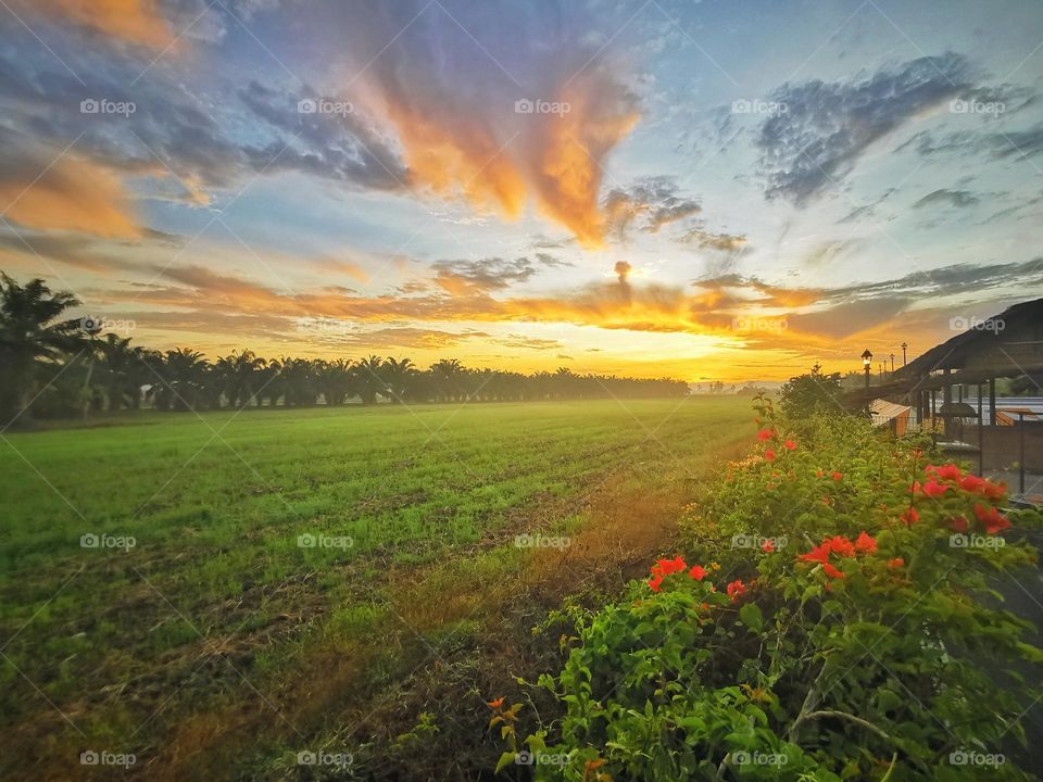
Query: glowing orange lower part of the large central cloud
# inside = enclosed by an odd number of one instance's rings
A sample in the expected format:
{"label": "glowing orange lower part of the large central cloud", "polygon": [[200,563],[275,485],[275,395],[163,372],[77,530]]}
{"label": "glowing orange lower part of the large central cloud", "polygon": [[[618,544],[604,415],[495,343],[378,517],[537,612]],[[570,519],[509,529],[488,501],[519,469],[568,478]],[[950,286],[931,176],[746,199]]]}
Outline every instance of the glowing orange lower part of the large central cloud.
{"label": "glowing orange lower part of the large central cloud", "polygon": [[489,101],[474,105],[444,86],[419,92],[379,67],[357,92],[393,126],[409,184],[462,197],[507,219],[532,202],[583,247],[604,244],[602,167],[640,118],[633,96],[606,70],[577,78],[553,100],[536,101],[530,113],[518,113],[500,94],[501,113],[491,115]]}

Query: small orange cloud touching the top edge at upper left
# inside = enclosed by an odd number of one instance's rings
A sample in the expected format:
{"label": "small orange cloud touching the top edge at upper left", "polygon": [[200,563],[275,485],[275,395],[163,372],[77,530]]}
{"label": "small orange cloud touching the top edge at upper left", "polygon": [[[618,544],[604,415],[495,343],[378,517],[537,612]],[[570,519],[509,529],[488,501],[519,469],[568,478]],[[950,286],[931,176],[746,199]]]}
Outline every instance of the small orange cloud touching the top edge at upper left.
{"label": "small orange cloud touching the top edge at upper left", "polygon": [[174,46],[174,35],[153,0],[21,0],[17,5],[131,43]]}

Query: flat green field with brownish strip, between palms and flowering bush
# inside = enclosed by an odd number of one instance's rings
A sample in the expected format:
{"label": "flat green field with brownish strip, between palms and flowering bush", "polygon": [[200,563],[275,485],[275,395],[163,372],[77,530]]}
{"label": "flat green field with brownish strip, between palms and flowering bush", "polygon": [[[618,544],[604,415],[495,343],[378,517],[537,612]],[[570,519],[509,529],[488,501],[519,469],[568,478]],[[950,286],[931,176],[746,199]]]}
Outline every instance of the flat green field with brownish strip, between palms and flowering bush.
{"label": "flat green field with brownish strip, between palms and flowering bush", "polygon": [[[0,778],[105,778],[78,760],[105,749],[129,777],[318,779],[293,756],[323,748],[353,756],[330,778],[390,778],[411,742],[474,729],[431,760],[468,778],[498,755],[485,690],[538,672],[511,629],[646,568],[749,417],[381,405],[5,433]],[[515,545],[535,532],[568,545]]]}

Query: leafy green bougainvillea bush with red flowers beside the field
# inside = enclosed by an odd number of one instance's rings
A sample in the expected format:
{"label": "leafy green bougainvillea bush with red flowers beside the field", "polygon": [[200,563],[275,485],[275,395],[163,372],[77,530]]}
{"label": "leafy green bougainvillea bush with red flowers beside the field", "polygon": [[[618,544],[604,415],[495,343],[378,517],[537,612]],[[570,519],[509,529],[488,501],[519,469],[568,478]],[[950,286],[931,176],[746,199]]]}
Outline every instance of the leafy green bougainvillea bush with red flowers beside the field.
{"label": "leafy green bougainvillea bush with red flowers beside the field", "polygon": [[1034,567],[1039,515],[929,441],[756,407],[682,551],[578,615],[540,680],[564,716],[522,761],[585,781],[1032,779],[1005,748],[1043,653],[996,588]]}

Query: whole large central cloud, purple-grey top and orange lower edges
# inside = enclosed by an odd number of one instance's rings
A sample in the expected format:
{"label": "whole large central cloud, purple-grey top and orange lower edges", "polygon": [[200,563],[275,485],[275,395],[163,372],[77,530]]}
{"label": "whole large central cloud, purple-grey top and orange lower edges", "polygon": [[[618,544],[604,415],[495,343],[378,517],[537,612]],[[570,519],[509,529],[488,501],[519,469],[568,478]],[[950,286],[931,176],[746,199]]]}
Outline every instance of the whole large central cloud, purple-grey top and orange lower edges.
{"label": "whole large central cloud, purple-grey top and orange lower edges", "polygon": [[411,185],[508,219],[532,203],[596,248],[602,168],[637,99],[612,49],[582,42],[591,18],[542,5],[468,4],[463,27],[439,3],[382,3],[332,10],[328,24],[364,70],[352,92],[393,128]]}

